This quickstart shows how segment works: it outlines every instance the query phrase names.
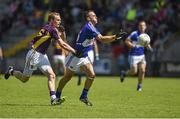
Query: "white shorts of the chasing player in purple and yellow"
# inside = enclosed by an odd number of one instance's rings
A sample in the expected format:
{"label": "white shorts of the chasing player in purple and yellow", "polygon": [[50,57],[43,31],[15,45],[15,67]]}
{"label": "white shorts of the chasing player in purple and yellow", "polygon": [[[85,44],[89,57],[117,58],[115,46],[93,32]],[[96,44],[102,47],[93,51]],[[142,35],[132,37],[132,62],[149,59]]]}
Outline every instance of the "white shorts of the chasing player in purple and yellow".
{"label": "white shorts of the chasing player in purple and yellow", "polygon": [[33,71],[37,68],[39,68],[41,71],[46,71],[47,69],[51,68],[51,65],[46,54],[41,54],[31,49],[26,55],[23,74],[26,76],[31,76]]}

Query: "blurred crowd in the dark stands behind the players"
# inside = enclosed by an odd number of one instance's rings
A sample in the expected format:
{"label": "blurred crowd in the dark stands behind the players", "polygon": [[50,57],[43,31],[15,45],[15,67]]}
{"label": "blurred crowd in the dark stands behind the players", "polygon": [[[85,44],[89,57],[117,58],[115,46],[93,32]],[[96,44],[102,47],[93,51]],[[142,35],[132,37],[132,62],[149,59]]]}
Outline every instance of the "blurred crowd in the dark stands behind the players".
{"label": "blurred crowd in the dark stands behind the players", "polygon": [[[28,47],[13,55],[6,55],[6,51],[37,32],[47,22],[49,11],[61,14],[67,40],[73,45],[85,22],[83,13],[88,9],[96,12],[99,20],[97,28],[102,34],[117,33],[120,29],[130,33],[136,29],[138,20],[146,20],[154,49],[153,53],[147,52],[148,75],[179,74],[179,0],[1,0],[0,45],[5,54],[4,62],[8,65],[18,63],[18,57],[24,60],[24,51]],[[128,68],[128,48],[123,41],[110,45],[99,43],[99,50],[100,60],[110,59],[110,74],[116,75],[120,69]],[[23,67],[22,62],[19,64]]]}

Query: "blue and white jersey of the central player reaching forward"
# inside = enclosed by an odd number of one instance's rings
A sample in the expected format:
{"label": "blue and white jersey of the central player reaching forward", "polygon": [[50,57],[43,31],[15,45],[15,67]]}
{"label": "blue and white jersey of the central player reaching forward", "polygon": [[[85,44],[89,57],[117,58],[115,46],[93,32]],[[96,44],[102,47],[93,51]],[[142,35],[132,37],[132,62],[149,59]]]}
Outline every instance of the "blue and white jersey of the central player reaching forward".
{"label": "blue and white jersey of the central player reaching forward", "polygon": [[88,56],[88,52],[93,50],[93,42],[98,34],[100,34],[100,32],[92,23],[86,23],[78,34],[75,49],[78,52],[83,52],[83,57]]}

